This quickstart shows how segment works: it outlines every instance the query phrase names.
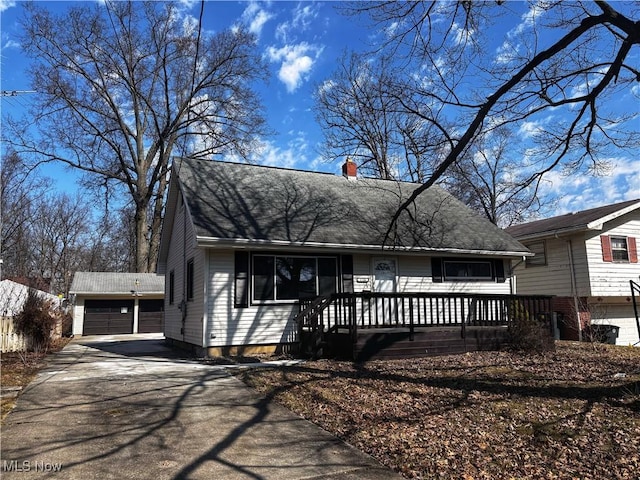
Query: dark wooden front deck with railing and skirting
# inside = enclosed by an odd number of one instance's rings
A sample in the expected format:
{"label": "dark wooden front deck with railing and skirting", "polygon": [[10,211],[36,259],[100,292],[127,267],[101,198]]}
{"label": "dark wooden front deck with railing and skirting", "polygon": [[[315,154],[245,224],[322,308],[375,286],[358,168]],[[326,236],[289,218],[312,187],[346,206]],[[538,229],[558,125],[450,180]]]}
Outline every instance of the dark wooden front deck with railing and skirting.
{"label": "dark wooden front deck with railing and skirting", "polygon": [[425,293],[334,294],[301,302],[303,355],[354,361],[500,350],[514,322],[542,322],[551,297]]}

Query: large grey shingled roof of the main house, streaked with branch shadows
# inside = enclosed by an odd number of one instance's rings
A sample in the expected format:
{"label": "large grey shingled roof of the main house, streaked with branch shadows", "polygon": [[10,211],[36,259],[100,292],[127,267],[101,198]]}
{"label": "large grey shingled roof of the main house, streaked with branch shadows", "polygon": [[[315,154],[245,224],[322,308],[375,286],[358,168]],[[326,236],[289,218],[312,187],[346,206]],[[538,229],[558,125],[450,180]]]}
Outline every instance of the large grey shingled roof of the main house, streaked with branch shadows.
{"label": "large grey shingled roof of the main house, streaked with branch shadows", "polygon": [[528,253],[436,186],[387,238],[393,214],[419,184],[193,159],[174,163],[176,180],[200,245]]}

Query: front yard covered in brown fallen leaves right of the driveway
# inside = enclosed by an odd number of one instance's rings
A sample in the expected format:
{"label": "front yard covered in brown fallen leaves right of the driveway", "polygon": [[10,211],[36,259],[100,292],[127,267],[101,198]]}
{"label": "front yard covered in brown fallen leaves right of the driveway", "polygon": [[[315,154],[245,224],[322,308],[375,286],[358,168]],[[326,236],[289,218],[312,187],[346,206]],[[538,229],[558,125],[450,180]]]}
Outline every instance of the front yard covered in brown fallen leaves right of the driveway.
{"label": "front yard covered in brown fallen leaves right of the driveway", "polygon": [[558,342],[545,355],[321,360],[240,375],[407,478],[640,479],[640,348]]}

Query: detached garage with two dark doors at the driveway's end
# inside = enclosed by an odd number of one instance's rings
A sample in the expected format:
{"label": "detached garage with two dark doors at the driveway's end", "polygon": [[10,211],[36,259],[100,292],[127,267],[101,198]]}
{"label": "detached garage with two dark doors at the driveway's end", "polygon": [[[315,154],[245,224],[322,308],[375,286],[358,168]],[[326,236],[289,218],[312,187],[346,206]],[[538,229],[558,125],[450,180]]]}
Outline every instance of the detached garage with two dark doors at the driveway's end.
{"label": "detached garage with two dark doors at the driveway's end", "polygon": [[74,335],[119,335],[164,331],[164,275],[76,272]]}

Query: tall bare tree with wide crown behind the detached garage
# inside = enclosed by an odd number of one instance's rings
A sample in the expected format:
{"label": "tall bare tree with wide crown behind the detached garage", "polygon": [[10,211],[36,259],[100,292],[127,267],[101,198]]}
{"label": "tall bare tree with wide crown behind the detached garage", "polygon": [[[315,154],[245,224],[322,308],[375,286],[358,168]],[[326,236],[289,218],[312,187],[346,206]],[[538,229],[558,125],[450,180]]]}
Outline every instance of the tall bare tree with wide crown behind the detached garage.
{"label": "tall bare tree with wide crown behind the detached garage", "polygon": [[124,194],[133,269],[153,271],[171,157],[246,158],[265,133],[250,88],[267,71],[255,39],[242,28],[204,33],[168,2],[107,0],[58,16],[28,3],[25,12],[37,135],[12,122],[15,148]]}

